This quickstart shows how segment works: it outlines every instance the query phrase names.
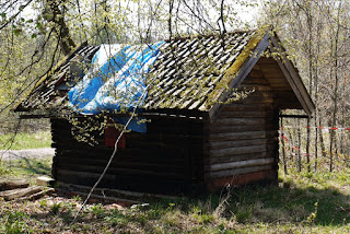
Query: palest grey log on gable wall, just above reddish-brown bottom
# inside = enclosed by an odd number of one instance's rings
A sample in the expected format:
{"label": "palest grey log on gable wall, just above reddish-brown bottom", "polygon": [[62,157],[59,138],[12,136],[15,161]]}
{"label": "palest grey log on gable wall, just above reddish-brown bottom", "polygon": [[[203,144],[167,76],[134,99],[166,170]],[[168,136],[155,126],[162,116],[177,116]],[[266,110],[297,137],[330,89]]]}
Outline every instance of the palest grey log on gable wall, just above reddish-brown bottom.
{"label": "palest grey log on gable wall, just above reddish-brown bottom", "polygon": [[212,164],[210,165],[210,171],[224,171],[224,169],[235,169],[235,168],[243,168],[243,167],[254,167],[254,166],[262,166],[272,164],[275,161],[273,157],[267,159],[258,159],[258,160],[246,160],[240,162],[231,162],[231,163],[221,163],[221,164]]}

